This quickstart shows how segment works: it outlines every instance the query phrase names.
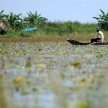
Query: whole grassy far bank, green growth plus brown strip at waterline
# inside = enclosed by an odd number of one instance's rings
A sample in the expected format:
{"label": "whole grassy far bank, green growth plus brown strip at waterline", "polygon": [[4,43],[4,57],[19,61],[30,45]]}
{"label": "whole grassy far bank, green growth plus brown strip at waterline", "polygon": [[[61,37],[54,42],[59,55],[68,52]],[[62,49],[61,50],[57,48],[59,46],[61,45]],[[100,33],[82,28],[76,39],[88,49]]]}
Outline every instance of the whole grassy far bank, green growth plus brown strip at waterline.
{"label": "whole grassy far bank, green growth plus brown strip at waterline", "polygon": [[[34,25],[35,26],[35,25]],[[66,41],[67,39],[75,39],[79,41],[90,42],[92,37],[96,37],[95,31],[98,25],[96,23],[80,23],[80,22],[46,22],[37,26],[37,30],[25,33],[9,30],[7,34],[0,35],[0,42],[40,42],[40,41]],[[108,32],[102,30],[105,40],[108,40]],[[6,39],[8,38],[8,39]]]}

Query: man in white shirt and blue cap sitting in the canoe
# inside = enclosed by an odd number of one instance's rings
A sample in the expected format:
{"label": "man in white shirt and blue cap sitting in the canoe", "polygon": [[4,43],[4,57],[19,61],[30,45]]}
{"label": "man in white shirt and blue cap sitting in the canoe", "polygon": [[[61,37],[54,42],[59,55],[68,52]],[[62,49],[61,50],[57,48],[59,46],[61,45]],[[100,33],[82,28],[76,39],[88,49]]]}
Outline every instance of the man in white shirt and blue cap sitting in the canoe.
{"label": "man in white shirt and blue cap sitting in the canoe", "polygon": [[104,34],[100,30],[100,28],[96,28],[97,31],[97,38],[92,38],[91,43],[104,43]]}

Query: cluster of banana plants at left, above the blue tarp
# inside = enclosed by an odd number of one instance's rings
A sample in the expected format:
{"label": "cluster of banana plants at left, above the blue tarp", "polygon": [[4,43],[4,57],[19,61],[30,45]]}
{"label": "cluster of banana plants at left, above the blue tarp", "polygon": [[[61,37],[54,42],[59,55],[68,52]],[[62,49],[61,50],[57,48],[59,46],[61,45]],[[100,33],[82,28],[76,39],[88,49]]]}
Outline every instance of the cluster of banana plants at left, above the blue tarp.
{"label": "cluster of banana plants at left, above the blue tarp", "polygon": [[22,14],[14,14],[10,12],[8,15],[4,14],[4,10],[0,12],[0,20],[5,20],[9,24],[12,30],[19,31],[24,27],[38,26],[45,23],[47,18],[42,17],[41,14],[29,12],[27,17],[22,18]]}

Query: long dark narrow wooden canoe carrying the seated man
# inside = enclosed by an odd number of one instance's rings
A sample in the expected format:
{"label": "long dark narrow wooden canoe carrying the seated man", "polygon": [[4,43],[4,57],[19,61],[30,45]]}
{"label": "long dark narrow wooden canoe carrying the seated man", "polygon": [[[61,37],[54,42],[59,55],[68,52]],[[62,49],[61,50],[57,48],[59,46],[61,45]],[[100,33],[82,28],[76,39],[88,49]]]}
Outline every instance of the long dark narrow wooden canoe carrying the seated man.
{"label": "long dark narrow wooden canoe carrying the seated man", "polygon": [[104,42],[104,43],[90,43],[90,42],[80,42],[77,40],[72,40],[72,39],[68,39],[67,40],[69,43],[71,43],[72,45],[108,45],[108,42]]}

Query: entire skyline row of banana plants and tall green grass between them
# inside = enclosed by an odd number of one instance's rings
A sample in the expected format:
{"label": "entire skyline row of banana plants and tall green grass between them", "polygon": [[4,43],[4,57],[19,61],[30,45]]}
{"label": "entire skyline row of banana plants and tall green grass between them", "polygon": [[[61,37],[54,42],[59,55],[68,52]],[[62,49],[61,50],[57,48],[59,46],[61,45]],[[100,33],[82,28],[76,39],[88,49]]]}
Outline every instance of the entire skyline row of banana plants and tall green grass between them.
{"label": "entire skyline row of banana plants and tall green grass between them", "polygon": [[27,13],[26,17],[22,18],[22,14],[14,14],[10,12],[8,15],[4,14],[4,10],[0,12],[0,20],[5,20],[13,31],[21,31],[25,27],[37,27],[37,32],[50,35],[77,35],[77,33],[93,32],[96,26],[103,30],[108,30],[108,13],[101,10],[98,17],[92,17],[97,20],[97,23],[82,24],[78,21],[48,21],[47,18],[38,14],[37,11]]}

